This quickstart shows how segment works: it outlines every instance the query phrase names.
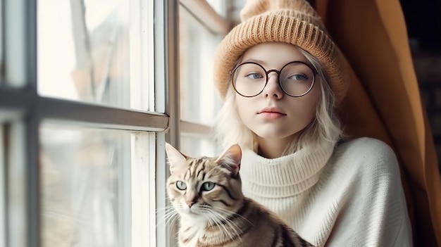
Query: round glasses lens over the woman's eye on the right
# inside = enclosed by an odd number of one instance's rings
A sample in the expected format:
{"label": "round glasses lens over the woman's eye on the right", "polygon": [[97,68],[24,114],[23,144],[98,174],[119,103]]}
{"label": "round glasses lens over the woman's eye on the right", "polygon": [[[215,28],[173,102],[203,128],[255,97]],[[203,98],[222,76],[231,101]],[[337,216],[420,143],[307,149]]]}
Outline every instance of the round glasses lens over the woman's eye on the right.
{"label": "round glasses lens over the woman's eye on the right", "polygon": [[290,96],[303,96],[311,90],[314,73],[308,65],[293,62],[280,71],[280,86]]}

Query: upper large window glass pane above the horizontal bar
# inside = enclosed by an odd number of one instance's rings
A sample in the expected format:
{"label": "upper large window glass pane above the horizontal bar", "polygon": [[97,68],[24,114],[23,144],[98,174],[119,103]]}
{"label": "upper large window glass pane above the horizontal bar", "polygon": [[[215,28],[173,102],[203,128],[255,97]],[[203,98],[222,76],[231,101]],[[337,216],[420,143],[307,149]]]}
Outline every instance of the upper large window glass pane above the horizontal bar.
{"label": "upper large window glass pane above the horizontal bar", "polygon": [[130,22],[139,20],[130,18],[130,1],[39,0],[37,7],[39,94],[141,108],[130,102],[142,81],[130,76],[130,56],[146,54],[130,46]]}

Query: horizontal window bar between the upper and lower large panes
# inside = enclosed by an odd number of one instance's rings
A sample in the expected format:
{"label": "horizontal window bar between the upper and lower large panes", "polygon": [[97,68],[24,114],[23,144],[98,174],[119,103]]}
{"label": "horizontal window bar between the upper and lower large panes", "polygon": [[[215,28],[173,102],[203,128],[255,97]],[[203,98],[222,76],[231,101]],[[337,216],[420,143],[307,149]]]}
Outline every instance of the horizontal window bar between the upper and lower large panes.
{"label": "horizontal window bar between the upper and lower large panes", "polygon": [[79,122],[82,125],[109,129],[163,132],[168,127],[168,116],[139,110],[99,106],[77,101],[66,101],[36,96],[21,89],[0,87],[0,106],[23,112],[35,112],[36,117]]}

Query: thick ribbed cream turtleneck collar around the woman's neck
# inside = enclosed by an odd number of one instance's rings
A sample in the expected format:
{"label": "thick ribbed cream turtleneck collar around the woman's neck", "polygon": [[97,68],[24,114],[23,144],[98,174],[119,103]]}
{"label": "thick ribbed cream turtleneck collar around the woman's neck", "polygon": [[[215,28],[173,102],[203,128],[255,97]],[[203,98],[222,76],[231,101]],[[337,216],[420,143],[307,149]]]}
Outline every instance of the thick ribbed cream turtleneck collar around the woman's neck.
{"label": "thick ribbed cream turtleneck collar around the woman's neck", "polygon": [[244,149],[240,165],[242,190],[246,196],[266,198],[300,194],[318,182],[333,149],[334,144],[326,142],[273,159]]}

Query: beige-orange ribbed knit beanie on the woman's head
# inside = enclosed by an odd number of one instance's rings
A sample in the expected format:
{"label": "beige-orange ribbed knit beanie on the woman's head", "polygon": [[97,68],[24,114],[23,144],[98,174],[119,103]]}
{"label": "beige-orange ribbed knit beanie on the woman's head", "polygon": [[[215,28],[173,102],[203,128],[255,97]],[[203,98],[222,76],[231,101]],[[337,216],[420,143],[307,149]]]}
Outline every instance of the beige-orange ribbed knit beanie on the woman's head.
{"label": "beige-orange ribbed knit beanie on the woman's head", "polygon": [[264,42],[285,42],[320,61],[336,103],[342,101],[349,85],[346,63],[307,1],[247,0],[240,15],[242,23],[225,36],[214,59],[214,82],[222,99],[228,91],[230,71],[247,49]]}

